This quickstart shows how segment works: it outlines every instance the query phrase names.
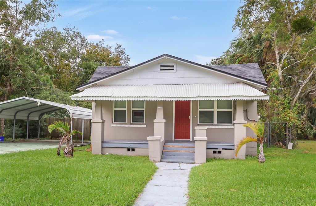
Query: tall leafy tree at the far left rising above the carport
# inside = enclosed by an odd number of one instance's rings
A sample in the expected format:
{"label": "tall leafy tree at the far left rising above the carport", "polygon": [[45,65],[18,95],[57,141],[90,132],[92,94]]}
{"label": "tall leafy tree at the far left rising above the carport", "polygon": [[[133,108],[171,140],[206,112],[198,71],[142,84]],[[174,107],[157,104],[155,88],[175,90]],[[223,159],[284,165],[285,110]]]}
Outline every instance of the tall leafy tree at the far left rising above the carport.
{"label": "tall leafy tree at the far left rising above the carport", "polygon": [[[53,0],[32,0],[22,3],[19,0],[0,0],[0,101],[8,100],[12,92],[25,91],[24,85],[49,84],[41,77],[46,68],[40,52],[24,45],[40,25],[54,21],[57,5]],[[43,83],[44,81],[44,83]],[[0,135],[3,135],[4,120],[1,119]]]}

